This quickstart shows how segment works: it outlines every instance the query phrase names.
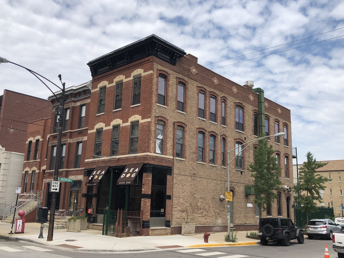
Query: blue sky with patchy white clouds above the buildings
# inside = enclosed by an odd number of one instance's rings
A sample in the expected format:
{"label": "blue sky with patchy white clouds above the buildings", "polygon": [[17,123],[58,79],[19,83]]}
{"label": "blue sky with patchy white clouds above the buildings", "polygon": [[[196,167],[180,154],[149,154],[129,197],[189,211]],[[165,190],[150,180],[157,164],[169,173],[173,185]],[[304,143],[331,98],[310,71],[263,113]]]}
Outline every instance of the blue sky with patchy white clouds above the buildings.
{"label": "blue sky with patchy white clouds above the buildings", "polygon": [[[234,82],[254,80],[289,108],[299,162],[307,151],[318,160],[344,159],[343,1],[0,0],[0,6],[0,56],[56,84],[58,74],[67,86],[90,80],[88,61],[154,33],[202,65],[218,62],[207,67]],[[12,64],[0,65],[3,89],[50,95]]]}

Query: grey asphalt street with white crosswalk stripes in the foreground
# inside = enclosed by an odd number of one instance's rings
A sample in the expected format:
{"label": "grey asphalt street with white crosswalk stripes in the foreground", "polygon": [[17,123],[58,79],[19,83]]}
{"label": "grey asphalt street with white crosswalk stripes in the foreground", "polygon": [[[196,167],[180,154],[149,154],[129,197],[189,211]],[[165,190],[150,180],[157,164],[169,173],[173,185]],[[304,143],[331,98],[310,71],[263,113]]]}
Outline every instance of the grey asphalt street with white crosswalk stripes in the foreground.
{"label": "grey asphalt street with white crosswalk stripes in the foreground", "polygon": [[329,247],[330,258],[338,257],[332,249],[331,240],[306,239],[304,244],[291,241],[290,246],[269,244],[268,246],[243,246],[243,247],[213,247],[213,248],[179,248],[173,250],[159,250],[149,252],[136,252],[129,254],[81,252],[66,248],[57,248],[23,241],[0,240],[1,258],[323,258],[325,245]]}

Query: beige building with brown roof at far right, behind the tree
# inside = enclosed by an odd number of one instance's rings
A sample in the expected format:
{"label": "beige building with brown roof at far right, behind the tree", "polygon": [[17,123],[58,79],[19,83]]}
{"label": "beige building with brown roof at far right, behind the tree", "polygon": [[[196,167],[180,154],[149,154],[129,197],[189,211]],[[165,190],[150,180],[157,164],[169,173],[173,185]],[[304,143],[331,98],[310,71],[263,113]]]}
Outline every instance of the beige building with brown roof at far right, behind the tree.
{"label": "beige building with brown roof at far right, behind the tree", "polygon": [[[344,204],[344,160],[326,160],[322,162],[328,163],[320,168],[318,173],[330,179],[330,181],[324,184],[326,189],[320,192],[322,202],[317,202],[317,206],[333,207],[334,216],[341,217],[342,211],[340,211],[339,206]],[[298,165],[299,170],[301,165]],[[296,165],[293,165],[293,172],[295,175],[294,183],[297,183]]]}

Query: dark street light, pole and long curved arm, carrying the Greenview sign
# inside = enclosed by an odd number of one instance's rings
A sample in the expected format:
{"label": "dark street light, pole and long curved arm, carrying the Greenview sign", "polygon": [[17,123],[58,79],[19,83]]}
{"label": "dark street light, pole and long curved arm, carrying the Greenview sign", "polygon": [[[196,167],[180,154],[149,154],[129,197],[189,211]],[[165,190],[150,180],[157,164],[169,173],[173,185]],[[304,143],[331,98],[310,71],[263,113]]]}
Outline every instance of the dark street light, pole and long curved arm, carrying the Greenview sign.
{"label": "dark street light, pole and long curved arm, carrying the Greenview sign", "polygon": [[[65,102],[65,83],[62,83],[62,79],[61,79],[61,74],[58,75],[58,78],[61,81],[62,84],[62,88],[57,86],[55,83],[53,83],[51,80],[45,78],[44,76],[32,71],[29,68],[26,68],[22,65],[13,63],[8,61],[6,58],[2,58],[0,56],[0,64],[1,63],[11,63],[17,66],[20,66],[24,69],[26,69],[27,71],[29,71],[31,74],[33,74],[37,79],[39,79],[55,96],[55,98],[58,100],[58,102],[60,102],[61,107],[56,107],[55,108],[55,114],[58,115],[58,135],[57,135],[57,147],[56,147],[56,159],[55,159],[55,170],[54,170],[54,181],[58,181],[58,164],[59,164],[59,160],[60,160],[60,147],[61,147],[61,138],[62,138],[62,121],[63,121],[63,112],[64,112],[64,102]],[[58,97],[55,95],[55,93],[41,80],[41,78],[39,78],[38,76],[46,79],[48,82],[52,83],[53,85],[55,85],[57,88],[61,89],[61,100],[58,99]],[[49,191],[49,190],[48,190]],[[47,241],[52,241],[53,240],[53,235],[54,235],[54,220],[55,220],[55,200],[56,200],[56,192],[52,192],[52,196],[51,196],[51,207],[50,207],[50,218],[49,218],[49,229],[48,229],[48,236],[47,236]],[[12,223],[12,227],[13,227],[13,223]],[[11,230],[12,232],[12,230]]]}

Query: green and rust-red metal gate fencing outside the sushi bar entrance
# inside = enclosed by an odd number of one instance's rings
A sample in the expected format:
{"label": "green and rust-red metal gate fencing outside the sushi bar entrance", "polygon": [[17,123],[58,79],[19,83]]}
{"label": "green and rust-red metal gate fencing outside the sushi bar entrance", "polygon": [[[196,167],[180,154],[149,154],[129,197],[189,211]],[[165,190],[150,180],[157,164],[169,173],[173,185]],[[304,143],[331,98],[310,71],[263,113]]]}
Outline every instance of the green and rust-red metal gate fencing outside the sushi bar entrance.
{"label": "green and rust-red metal gate fencing outside the sushi bar entrance", "polygon": [[104,210],[102,235],[142,236],[142,213]]}

